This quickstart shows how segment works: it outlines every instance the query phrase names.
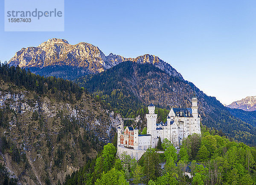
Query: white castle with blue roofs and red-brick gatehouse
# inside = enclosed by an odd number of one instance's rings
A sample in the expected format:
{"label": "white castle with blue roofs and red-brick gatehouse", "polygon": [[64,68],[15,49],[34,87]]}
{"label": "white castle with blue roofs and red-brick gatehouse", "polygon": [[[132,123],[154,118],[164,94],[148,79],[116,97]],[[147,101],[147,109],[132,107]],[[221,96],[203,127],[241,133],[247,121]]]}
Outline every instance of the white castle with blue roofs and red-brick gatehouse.
{"label": "white castle with blue roofs and red-brick gatehouse", "polygon": [[122,153],[132,158],[140,159],[148,147],[156,147],[158,138],[168,139],[178,148],[182,140],[193,133],[201,135],[200,115],[198,115],[198,100],[194,94],[191,108],[173,108],[170,110],[165,123],[157,123],[157,114],[154,113],[155,106],[148,105],[147,134],[140,135],[139,129],[123,126],[117,128],[117,154],[119,158]]}

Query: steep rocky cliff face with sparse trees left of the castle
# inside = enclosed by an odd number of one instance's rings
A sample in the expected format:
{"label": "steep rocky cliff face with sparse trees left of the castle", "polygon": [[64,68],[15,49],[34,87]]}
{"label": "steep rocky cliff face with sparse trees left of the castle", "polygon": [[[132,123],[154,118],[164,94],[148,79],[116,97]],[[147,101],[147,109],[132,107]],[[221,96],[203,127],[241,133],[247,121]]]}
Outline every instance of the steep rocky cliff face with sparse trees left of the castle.
{"label": "steep rocky cliff face with sparse trees left of the castle", "polygon": [[0,116],[0,163],[22,184],[63,182],[122,124],[120,115],[89,94],[75,103],[55,101],[51,94],[40,96],[3,81]]}

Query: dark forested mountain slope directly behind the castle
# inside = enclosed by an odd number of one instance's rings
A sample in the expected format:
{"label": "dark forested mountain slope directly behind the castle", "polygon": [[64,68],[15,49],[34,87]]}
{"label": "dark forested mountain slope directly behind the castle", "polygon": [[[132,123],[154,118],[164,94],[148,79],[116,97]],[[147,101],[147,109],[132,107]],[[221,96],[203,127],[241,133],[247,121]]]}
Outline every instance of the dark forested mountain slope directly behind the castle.
{"label": "dark forested mountain slope directly behind the castle", "polygon": [[98,95],[123,116],[150,103],[157,107],[190,107],[192,93],[198,97],[202,123],[222,130],[230,138],[256,145],[256,128],[233,116],[215,97],[207,96],[191,82],[169,75],[151,64],[126,61],[100,74],[76,82]]}

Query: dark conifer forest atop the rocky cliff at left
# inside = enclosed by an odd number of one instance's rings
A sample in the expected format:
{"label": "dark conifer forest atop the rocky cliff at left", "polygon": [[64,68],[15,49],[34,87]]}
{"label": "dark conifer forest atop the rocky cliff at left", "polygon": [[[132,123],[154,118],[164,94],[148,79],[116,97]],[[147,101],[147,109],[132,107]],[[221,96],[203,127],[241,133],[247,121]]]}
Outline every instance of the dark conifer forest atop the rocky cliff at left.
{"label": "dark conifer forest atop the rocky cliff at left", "polygon": [[[58,101],[73,102],[79,100],[84,90],[72,81],[53,76],[35,75],[29,69],[21,69],[19,66],[9,66],[8,64],[0,65],[0,79],[4,82],[12,82],[18,87],[35,91],[39,95],[51,93]],[[75,94],[75,97],[71,95],[72,93]]]}

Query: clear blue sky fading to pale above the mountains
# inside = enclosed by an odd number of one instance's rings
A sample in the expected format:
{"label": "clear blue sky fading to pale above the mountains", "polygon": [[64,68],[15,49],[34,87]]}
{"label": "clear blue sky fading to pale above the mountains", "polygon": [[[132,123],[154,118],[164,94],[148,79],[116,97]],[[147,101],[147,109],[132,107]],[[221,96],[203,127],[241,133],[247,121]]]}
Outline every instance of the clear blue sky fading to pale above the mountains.
{"label": "clear blue sky fading to pale above the mountains", "polygon": [[156,55],[224,104],[256,95],[255,0],[65,0],[64,15],[64,32],[4,32],[1,18],[0,60],[64,38],[105,55]]}

